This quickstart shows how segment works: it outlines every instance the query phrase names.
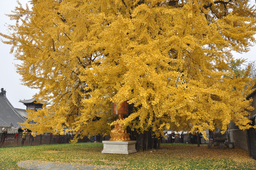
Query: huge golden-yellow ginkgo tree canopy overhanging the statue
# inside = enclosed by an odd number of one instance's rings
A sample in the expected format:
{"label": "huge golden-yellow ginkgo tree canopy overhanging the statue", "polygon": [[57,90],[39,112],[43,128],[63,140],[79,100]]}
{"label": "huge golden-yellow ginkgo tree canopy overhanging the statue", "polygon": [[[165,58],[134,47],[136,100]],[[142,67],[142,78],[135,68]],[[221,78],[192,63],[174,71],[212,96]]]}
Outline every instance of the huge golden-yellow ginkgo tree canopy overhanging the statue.
{"label": "huge golden-yellow ginkgo tree canopy overhanging the statue", "polygon": [[242,77],[230,69],[231,51],[246,52],[255,43],[256,11],[248,1],[30,3],[31,9],[15,8],[9,17],[16,25],[1,36],[22,61],[23,84],[52,103],[29,114],[32,131],[109,131],[111,101],[127,101],[133,109],[124,123],[141,131],[225,131],[230,120],[249,127],[250,67]]}

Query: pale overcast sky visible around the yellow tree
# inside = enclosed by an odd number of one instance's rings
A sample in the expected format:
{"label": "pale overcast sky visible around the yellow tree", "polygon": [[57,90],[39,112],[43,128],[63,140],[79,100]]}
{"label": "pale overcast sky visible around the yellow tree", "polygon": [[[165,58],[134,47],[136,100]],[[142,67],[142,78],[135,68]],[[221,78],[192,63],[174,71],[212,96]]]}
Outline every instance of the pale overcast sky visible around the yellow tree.
{"label": "pale overcast sky visible around the yellow tree", "polygon": [[[20,0],[22,4],[26,4],[28,0]],[[252,1],[252,5],[255,4]],[[7,33],[5,23],[12,24],[13,22],[4,14],[10,14],[17,6],[16,0],[2,0],[0,6],[0,32]],[[26,107],[19,102],[24,99],[31,99],[33,95],[38,93],[36,89],[30,89],[27,86],[21,85],[21,76],[16,73],[14,63],[19,61],[14,60],[13,54],[10,54],[11,45],[5,45],[0,42],[0,88],[6,90],[6,97],[15,108],[26,109]],[[251,48],[248,53],[234,53],[235,58],[245,58],[247,61],[256,60],[256,46]]]}

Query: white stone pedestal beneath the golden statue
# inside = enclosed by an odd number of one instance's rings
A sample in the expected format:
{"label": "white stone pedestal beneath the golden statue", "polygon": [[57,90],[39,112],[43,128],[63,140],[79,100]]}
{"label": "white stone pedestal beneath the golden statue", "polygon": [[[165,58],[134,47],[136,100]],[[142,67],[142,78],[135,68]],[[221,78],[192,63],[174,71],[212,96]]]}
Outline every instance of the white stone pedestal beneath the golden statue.
{"label": "white stone pedestal beneath the golden statue", "polygon": [[103,150],[101,153],[131,154],[137,152],[136,141],[102,141]]}

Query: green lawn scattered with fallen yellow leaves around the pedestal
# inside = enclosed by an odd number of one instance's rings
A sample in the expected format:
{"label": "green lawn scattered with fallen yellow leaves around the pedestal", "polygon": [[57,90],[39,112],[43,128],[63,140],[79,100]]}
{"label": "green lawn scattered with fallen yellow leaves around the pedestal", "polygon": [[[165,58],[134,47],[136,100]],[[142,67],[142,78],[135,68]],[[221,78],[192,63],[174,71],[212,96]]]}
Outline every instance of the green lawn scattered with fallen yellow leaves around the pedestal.
{"label": "green lawn scattered with fallen yellow leaves around the pedestal", "polygon": [[0,169],[22,169],[17,163],[24,160],[121,166],[120,169],[256,169],[256,160],[237,147],[220,150],[175,143],[130,155],[102,154],[102,150],[102,143],[0,148]]}

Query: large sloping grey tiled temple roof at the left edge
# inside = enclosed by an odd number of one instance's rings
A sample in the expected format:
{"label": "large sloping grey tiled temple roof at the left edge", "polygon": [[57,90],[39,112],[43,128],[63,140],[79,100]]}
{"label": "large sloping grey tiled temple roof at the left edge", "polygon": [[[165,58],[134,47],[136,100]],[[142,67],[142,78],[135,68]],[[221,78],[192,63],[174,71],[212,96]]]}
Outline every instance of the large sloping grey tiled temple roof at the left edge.
{"label": "large sloping grey tiled temple roof at the left edge", "polygon": [[17,112],[4,93],[0,93],[0,126],[21,127],[26,119]]}

